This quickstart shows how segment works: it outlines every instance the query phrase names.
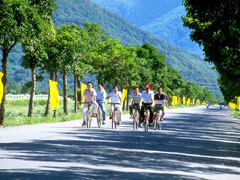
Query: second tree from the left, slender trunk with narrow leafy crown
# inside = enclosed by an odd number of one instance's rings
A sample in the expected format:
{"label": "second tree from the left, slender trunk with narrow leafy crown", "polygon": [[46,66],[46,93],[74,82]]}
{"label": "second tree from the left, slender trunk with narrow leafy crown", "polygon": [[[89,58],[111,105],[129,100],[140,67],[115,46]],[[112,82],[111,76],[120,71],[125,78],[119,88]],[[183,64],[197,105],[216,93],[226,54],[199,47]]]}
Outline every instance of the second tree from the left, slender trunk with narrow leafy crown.
{"label": "second tree from the left, slender trunk with narrow leafy crown", "polygon": [[49,31],[51,31],[51,15],[55,10],[56,2],[55,0],[30,0],[31,6],[36,7],[37,13],[42,18],[42,27],[37,31],[34,37],[25,37],[22,46],[25,52],[23,57],[23,67],[31,69],[32,85],[31,93],[29,99],[28,117],[33,116],[33,106],[34,106],[34,94],[36,91],[36,68],[42,63],[42,59],[47,56],[43,41],[44,36],[47,36]]}

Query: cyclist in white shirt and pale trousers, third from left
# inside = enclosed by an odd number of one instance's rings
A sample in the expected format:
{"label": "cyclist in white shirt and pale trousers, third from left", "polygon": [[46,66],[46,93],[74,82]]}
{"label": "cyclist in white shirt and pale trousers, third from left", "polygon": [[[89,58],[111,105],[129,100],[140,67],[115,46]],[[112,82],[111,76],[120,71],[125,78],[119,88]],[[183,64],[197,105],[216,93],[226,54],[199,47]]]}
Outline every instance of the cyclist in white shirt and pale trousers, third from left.
{"label": "cyclist in white shirt and pale trousers, third from left", "polygon": [[[119,125],[120,122],[121,122],[121,119],[122,119],[122,107],[121,107],[121,104],[122,104],[122,93],[120,91],[118,91],[117,85],[113,86],[113,92],[110,93],[110,98],[108,100],[108,103],[111,103],[111,102],[116,104],[115,107],[117,108],[117,110],[119,112],[119,117],[117,118],[117,125]],[[114,105],[111,104],[109,119],[112,118],[112,112],[114,110],[113,108],[114,108]]]}

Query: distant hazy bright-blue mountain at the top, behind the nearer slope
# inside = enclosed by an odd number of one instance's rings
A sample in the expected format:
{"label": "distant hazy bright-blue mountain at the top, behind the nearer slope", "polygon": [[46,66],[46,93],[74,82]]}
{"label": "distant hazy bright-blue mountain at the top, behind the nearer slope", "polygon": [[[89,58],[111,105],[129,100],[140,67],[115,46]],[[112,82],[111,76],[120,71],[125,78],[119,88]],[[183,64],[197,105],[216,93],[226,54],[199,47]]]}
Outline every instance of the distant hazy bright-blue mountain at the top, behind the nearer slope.
{"label": "distant hazy bright-blue mountain at the top, behind the nearer slope", "polygon": [[192,42],[190,30],[183,26],[181,16],[186,13],[181,0],[91,0],[132,24],[202,56],[202,49]]}

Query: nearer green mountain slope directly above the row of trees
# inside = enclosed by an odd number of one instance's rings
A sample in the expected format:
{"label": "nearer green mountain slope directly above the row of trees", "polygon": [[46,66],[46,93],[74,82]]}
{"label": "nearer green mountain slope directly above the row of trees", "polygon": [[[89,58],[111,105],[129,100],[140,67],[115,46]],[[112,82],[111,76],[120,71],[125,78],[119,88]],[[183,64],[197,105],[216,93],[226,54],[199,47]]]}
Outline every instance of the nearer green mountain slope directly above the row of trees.
{"label": "nearer green mountain slope directly above the row of trees", "polygon": [[[138,1],[131,2],[137,3]],[[220,95],[217,86],[218,74],[211,70],[210,65],[202,58],[189,54],[181,48],[141,30],[127,20],[91,3],[89,0],[58,0],[58,9],[53,14],[53,19],[57,25],[76,23],[82,26],[86,21],[97,22],[110,37],[119,39],[126,46],[142,45],[145,42],[150,42],[157,47],[160,53],[166,55],[167,65],[178,69],[185,80],[204,85],[214,94]]]}

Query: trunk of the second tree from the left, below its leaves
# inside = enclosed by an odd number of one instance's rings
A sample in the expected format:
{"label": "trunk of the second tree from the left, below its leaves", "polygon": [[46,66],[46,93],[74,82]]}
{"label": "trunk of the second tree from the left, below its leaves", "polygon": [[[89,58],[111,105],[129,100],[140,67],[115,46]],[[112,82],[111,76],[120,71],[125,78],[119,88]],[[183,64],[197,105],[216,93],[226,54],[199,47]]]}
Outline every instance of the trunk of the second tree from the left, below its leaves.
{"label": "trunk of the second tree from the left, below its leaves", "polygon": [[34,108],[34,94],[36,90],[36,67],[31,67],[31,75],[32,75],[32,87],[31,87],[31,94],[29,99],[29,106],[28,106],[28,117],[33,116],[33,108]]}

